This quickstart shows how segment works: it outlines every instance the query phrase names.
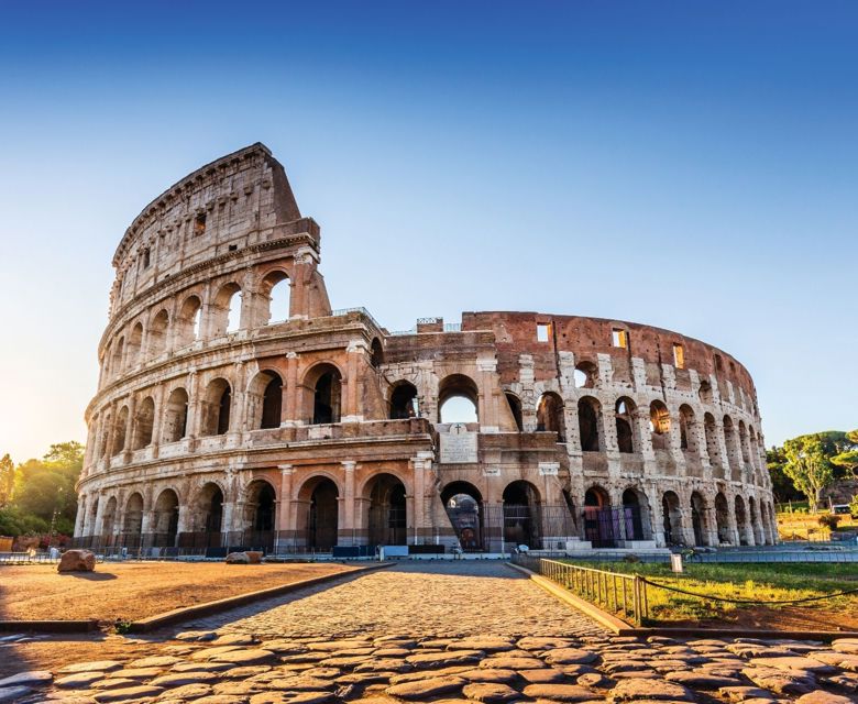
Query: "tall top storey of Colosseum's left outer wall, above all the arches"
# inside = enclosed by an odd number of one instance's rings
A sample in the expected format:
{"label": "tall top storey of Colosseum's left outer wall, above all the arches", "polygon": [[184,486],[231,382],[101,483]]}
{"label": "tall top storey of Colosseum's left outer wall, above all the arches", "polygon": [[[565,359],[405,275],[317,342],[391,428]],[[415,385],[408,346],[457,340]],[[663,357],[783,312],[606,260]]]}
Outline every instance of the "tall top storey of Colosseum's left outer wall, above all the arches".
{"label": "tall top storey of Colosseum's left outer wall, above all the arches", "polygon": [[[148,204],[125,231],[113,255],[111,314],[154,284],[300,217],[283,166],[263,144],[198,168]],[[318,228],[314,234],[318,249]]]}

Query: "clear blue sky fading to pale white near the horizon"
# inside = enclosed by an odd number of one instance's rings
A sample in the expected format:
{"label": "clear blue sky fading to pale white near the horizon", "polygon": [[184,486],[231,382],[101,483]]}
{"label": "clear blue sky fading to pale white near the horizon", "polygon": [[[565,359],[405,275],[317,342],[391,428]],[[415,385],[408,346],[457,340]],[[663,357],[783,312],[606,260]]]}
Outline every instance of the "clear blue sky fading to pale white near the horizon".
{"label": "clear blue sky fading to pale white near the horizon", "polygon": [[110,260],[262,141],[334,307],[722,346],[767,444],[858,426],[858,6],[4,2],[0,453],[85,439]]}

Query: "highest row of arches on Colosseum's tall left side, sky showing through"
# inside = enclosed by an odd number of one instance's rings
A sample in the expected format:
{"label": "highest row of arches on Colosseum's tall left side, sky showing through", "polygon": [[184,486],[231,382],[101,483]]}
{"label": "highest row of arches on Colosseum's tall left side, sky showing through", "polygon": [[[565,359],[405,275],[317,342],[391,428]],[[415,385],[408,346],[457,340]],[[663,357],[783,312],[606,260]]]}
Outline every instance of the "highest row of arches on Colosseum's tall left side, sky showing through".
{"label": "highest row of arches on Colosseum's tall left side, sky showing through", "polygon": [[114,341],[102,359],[102,382],[199,339],[288,320],[289,292],[288,275],[275,270],[263,276],[257,290],[252,293],[254,302],[261,301],[252,311],[243,305],[242,287],[234,280],[221,285],[205,302],[200,292],[187,295],[173,312],[167,306],[156,306],[125,332],[113,336]]}

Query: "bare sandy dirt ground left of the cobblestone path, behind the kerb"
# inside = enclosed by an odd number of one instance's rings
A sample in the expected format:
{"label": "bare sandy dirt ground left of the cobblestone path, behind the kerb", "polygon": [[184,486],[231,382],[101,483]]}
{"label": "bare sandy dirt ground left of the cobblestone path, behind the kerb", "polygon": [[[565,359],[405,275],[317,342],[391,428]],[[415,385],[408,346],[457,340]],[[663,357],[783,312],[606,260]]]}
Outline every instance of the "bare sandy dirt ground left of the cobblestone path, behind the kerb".
{"label": "bare sandy dirt ground left of the cobblestone path, behind the kerb", "polygon": [[134,620],[353,569],[337,563],[125,562],[59,574],[56,565],[0,566],[0,620]]}

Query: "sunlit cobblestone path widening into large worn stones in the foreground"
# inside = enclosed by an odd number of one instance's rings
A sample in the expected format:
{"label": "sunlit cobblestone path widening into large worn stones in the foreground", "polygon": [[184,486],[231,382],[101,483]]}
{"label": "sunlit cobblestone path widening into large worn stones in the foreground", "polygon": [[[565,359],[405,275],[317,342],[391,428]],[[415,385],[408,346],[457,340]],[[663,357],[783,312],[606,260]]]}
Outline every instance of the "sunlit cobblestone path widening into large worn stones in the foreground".
{"label": "sunlit cobblestone path widening into large worn stones in the foreground", "polygon": [[128,660],[0,681],[0,702],[858,702],[858,640],[619,638],[496,563],[406,563]]}

